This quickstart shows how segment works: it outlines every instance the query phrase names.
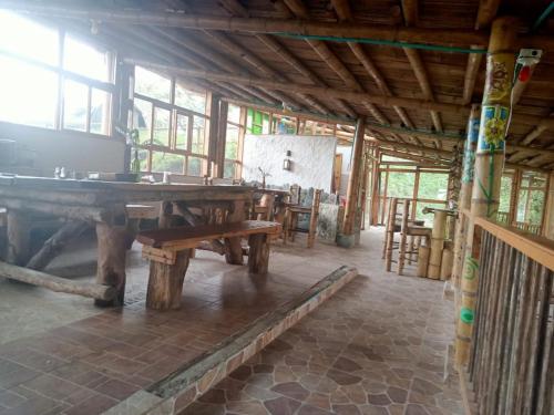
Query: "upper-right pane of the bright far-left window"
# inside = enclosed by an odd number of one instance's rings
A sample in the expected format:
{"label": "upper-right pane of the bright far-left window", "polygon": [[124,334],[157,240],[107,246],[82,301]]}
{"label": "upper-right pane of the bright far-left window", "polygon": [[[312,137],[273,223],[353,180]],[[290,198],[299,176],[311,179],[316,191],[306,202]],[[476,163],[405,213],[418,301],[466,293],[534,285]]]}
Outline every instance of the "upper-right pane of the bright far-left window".
{"label": "upper-right pane of the bright far-left window", "polygon": [[110,81],[107,53],[70,35],[64,40],[63,68],[93,80]]}

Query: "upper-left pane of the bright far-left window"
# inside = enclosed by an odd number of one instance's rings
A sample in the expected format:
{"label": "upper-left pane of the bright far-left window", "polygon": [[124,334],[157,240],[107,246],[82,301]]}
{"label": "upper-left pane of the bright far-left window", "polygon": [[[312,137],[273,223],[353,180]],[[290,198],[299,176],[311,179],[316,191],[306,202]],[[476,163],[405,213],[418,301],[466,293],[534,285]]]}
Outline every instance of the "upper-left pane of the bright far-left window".
{"label": "upper-left pane of the bright far-left window", "polygon": [[0,50],[58,65],[59,49],[57,30],[0,10]]}

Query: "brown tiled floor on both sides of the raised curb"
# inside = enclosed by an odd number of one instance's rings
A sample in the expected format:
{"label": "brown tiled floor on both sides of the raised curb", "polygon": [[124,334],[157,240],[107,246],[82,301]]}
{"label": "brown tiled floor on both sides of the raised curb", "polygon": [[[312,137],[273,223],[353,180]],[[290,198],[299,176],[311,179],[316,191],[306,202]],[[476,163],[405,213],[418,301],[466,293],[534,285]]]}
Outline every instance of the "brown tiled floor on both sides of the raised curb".
{"label": "brown tiled floor on both sides of the raised curb", "polygon": [[439,282],[382,272],[381,234],[352,250],[276,247],[263,279],[203,252],[184,308],[166,313],[144,310],[147,267],[132,257],[123,310],[69,315],[0,345],[0,415],[101,413],[343,263],[361,276],[186,413],[461,413],[455,376],[443,382],[452,305]]}

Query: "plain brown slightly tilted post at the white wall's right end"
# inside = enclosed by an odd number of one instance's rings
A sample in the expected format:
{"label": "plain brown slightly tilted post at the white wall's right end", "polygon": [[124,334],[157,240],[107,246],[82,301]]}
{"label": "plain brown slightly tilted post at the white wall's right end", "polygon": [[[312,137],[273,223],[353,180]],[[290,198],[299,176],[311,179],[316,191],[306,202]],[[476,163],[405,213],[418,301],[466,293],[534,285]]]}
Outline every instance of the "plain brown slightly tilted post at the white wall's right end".
{"label": "plain brown slightly tilted post at the white wall's right end", "polygon": [[356,123],[356,134],[353,137],[353,148],[351,157],[350,177],[348,179],[347,201],[345,206],[345,220],[342,221],[342,232],[338,236],[337,242],[341,247],[351,248],[356,245],[356,220],[360,206],[360,185],[363,163],[363,135],[366,132],[366,121],[358,118]]}

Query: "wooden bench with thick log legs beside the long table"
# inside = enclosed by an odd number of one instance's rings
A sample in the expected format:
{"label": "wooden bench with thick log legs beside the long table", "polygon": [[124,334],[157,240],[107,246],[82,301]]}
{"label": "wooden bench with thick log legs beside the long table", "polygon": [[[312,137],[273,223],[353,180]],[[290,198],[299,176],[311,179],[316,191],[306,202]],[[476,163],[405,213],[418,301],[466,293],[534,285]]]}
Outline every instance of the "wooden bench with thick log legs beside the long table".
{"label": "wooden bench with thick log legs beside the long table", "polygon": [[[269,236],[281,231],[280,224],[245,220],[223,225],[199,225],[148,230],[138,234],[143,257],[150,259],[146,307],[155,310],[178,309],[191,251],[206,240],[248,237],[248,271],[267,273]],[[226,243],[227,245],[227,243]]]}

